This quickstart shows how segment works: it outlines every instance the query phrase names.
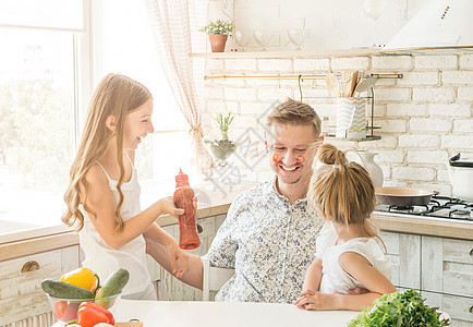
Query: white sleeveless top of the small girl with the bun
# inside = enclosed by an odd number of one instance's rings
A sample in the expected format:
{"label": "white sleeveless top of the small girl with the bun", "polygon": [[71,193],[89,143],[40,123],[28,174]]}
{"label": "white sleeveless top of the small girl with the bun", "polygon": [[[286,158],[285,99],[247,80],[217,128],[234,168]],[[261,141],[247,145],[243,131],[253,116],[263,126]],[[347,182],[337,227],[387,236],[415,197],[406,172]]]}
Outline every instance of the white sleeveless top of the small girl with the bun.
{"label": "white sleeveless top of the small girl with the bun", "polygon": [[391,265],[377,238],[356,238],[336,245],[337,238],[333,225],[330,221],[325,222],[316,242],[316,257],[322,259],[323,265],[322,293],[348,294],[348,290],[365,288],[340,267],[338,258],[345,252],[354,252],[364,256],[387,279],[391,279]]}

